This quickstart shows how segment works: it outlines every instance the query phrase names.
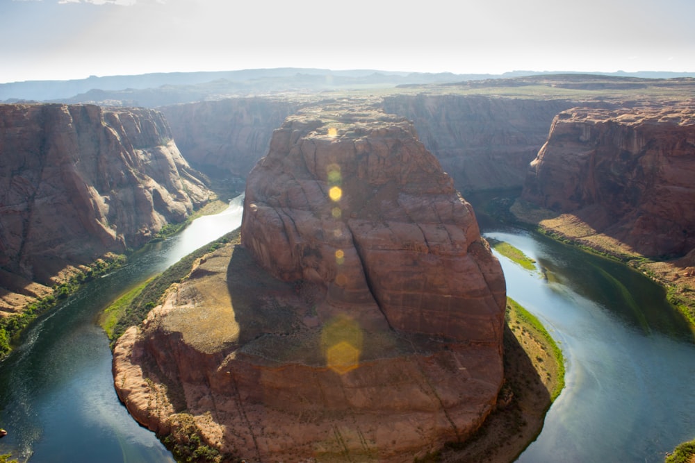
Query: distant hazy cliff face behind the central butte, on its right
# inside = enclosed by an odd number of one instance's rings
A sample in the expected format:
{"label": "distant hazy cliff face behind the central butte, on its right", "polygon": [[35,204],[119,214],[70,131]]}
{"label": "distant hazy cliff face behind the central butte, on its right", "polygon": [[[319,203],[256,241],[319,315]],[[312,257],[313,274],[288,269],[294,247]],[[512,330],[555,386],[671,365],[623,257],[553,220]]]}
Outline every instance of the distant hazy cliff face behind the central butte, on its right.
{"label": "distant hazy cliff face behind the central butte, on its right", "polygon": [[384,110],[414,121],[423,144],[468,192],[521,187],[553,117],[576,103],[460,95],[398,95]]}

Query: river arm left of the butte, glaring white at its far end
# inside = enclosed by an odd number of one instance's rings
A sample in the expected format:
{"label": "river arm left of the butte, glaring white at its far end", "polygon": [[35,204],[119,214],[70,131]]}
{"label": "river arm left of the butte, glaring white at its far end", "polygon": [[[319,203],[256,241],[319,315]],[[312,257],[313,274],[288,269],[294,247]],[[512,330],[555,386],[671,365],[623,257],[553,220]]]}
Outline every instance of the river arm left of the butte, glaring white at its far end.
{"label": "river arm left of the butte, glaring white at its far end", "polygon": [[0,453],[20,461],[174,462],[153,432],[126,412],[113,389],[111,351],[97,317],[129,287],[241,224],[243,196],[183,233],[147,246],[42,317],[0,364]]}

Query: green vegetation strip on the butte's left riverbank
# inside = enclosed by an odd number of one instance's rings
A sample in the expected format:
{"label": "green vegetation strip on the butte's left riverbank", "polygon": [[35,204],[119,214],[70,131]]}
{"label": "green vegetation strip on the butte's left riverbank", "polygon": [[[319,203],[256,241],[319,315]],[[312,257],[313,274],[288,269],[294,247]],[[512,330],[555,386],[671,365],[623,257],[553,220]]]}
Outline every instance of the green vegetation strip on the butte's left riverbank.
{"label": "green vegetation strip on the butte's left riverbank", "polygon": [[138,325],[147,316],[147,312],[156,307],[164,292],[171,285],[181,283],[188,277],[195,260],[218,249],[222,244],[238,239],[238,237],[238,229],[227,233],[220,239],[193,251],[159,276],[131,289],[114,301],[106,308],[105,315],[101,319],[101,326],[106,330],[109,339],[113,342],[125,332],[126,328]]}

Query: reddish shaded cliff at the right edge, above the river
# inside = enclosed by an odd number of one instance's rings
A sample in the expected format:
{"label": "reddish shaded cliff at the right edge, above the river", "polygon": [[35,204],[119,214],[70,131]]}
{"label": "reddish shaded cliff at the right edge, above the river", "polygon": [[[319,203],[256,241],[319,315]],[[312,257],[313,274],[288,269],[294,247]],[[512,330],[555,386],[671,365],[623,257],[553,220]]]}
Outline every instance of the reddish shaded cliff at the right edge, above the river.
{"label": "reddish shaded cliff at the right edge, above the river", "polygon": [[692,106],[575,108],[555,117],[523,199],[650,256],[695,248]]}

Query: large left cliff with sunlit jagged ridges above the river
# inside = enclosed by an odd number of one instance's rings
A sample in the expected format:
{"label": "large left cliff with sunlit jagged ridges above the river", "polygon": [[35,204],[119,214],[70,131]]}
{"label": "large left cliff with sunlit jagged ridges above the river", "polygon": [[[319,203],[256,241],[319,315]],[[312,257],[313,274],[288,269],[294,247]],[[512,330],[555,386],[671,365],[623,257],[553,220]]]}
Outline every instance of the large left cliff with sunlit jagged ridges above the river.
{"label": "large left cliff with sunlit jagged ridges above the river", "polygon": [[67,267],[136,248],[210,192],[163,115],[0,105],[0,310],[49,294]]}

